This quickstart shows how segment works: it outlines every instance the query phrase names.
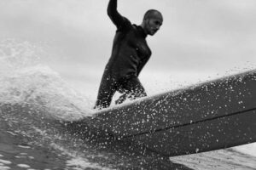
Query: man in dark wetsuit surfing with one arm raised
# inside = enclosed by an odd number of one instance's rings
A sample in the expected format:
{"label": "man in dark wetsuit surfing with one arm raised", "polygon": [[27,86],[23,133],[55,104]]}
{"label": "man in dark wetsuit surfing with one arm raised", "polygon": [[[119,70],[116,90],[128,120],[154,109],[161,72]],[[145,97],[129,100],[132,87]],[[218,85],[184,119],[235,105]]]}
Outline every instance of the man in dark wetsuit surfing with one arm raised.
{"label": "man in dark wetsuit surfing with one arm raised", "polygon": [[146,37],[153,36],[163,22],[162,14],[150,9],[144,14],[140,26],[132,25],[130,20],[117,11],[117,0],[109,1],[108,16],[117,31],[113,39],[112,54],[102,76],[95,109],[108,107],[116,92],[122,94],[116,104],[121,104],[125,99],[137,99],[147,95],[138,79],[151,55]]}

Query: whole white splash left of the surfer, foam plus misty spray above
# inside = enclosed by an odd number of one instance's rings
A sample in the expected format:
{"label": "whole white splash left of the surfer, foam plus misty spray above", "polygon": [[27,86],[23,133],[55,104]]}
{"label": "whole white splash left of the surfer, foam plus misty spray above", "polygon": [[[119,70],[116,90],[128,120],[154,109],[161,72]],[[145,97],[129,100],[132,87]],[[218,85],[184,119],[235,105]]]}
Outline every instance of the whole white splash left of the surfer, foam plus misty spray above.
{"label": "whole white splash left of the surfer, foam plus misty spray above", "polygon": [[29,42],[0,42],[0,103],[37,105],[55,119],[90,116],[88,100],[69,88],[58,73],[39,63],[40,50]]}

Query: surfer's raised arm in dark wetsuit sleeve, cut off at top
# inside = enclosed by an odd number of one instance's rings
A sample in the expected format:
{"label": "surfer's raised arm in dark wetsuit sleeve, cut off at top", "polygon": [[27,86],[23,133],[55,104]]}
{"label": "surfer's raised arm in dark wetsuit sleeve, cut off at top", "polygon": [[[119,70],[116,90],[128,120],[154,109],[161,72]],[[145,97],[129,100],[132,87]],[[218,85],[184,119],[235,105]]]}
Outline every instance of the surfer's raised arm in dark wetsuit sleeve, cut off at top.
{"label": "surfer's raised arm in dark wetsuit sleeve, cut off at top", "polygon": [[110,0],[108,3],[108,16],[112,20],[113,24],[118,28],[127,28],[131,26],[130,20],[123,17],[117,11],[117,0]]}

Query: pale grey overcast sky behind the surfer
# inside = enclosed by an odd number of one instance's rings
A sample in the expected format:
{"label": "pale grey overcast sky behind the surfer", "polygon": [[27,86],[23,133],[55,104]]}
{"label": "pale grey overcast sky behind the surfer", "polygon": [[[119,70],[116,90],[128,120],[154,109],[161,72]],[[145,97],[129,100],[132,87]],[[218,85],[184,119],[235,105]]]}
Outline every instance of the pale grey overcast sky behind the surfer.
{"label": "pale grey overcast sky behind the surfer", "polygon": [[[45,56],[49,65],[102,74],[115,32],[107,6],[108,0],[0,0],[0,39],[42,42],[53,56]],[[255,0],[118,1],[119,13],[137,25],[149,8],[159,9],[164,23],[147,38],[153,54],[144,72],[255,66]]]}

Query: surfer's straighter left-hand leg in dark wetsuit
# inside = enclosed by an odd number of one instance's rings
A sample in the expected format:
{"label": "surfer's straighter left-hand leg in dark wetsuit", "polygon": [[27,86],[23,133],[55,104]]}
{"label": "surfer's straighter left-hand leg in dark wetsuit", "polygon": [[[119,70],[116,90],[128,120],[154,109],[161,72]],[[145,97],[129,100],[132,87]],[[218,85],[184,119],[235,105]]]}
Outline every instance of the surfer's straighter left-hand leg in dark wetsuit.
{"label": "surfer's straighter left-hand leg in dark wetsuit", "polygon": [[116,82],[114,81],[114,79],[103,75],[94,109],[109,107],[113,98],[113,94],[115,92]]}

